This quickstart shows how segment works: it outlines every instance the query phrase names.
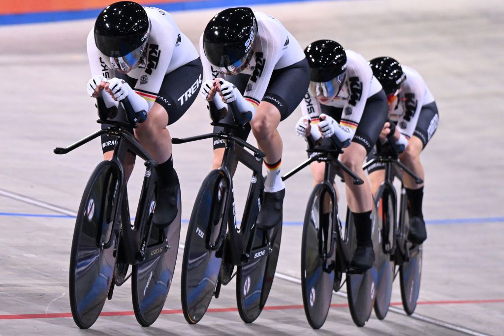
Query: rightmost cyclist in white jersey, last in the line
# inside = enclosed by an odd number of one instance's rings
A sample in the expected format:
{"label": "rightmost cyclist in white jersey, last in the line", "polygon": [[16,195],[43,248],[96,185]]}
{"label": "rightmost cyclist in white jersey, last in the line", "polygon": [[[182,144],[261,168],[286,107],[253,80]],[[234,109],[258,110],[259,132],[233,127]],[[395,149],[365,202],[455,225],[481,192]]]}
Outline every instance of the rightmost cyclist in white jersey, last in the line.
{"label": "rightmost cyclist in white jersey, last in the line", "polygon": [[[420,153],[427,146],[437,129],[439,114],[434,97],[422,76],[409,66],[401,65],[392,57],[376,57],[369,61],[374,76],[382,83],[389,102],[389,119],[397,124],[394,138],[404,152],[399,156],[402,163],[425,181]],[[382,138],[390,132],[386,123]],[[372,156],[369,156],[371,159]],[[385,178],[383,164],[369,167],[371,189],[375,192]],[[416,184],[408,174],[403,174],[408,196],[410,216],[408,239],[421,244],[427,239],[423,220],[423,183]]]}

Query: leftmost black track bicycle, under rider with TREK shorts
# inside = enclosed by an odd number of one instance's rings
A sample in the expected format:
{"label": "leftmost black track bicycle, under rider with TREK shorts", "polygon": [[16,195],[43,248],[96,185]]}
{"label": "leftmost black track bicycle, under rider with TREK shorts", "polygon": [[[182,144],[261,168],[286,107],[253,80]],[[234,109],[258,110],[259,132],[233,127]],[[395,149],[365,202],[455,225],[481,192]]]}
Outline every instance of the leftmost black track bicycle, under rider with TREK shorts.
{"label": "leftmost black track bicycle, under rider with TREK shorts", "polygon": [[[100,103],[100,102],[99,102]],[[77,219],[70,255],[70,306],[75,323],[83,329],[96,321],[106,299],[112,298],[114,286],[132,278],[133,309],[143,326],[154,323],[170,289],[180,236],[180,192],[178,214],[166,228],[152,225],[156,208],[157,162],[128,130],[147,118],[147,113],[134,112],[128,98],[121,101],[128,123],[106,120],[109,124],[67,148],[55,148],[55,154],[66,154],[107,134],[115,137],[113,157],[95,168],[84,193]],[[112,116],[113,118],[114,116]],[[124,157],[130,151],[145,160],[145,177],[132,224],[124,173]],[[128,274],[129,265],[133,265]]]}

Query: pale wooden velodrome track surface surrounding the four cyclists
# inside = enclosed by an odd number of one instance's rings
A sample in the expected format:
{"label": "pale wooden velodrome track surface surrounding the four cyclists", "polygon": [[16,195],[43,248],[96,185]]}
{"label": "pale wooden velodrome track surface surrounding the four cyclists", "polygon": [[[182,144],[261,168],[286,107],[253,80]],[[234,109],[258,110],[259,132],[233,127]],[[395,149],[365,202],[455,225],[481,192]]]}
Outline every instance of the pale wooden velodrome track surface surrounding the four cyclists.
{"label": "pale wooden velodrome track surface surrounding the four cyclists", "polygon": [[[165,311],[148,328],[132,316],[130,283],[114,291],[91,334],[504,334],[504,5],[500,1],[340,1],[255,6],[277,17],[304,47],[331,38],[370,59],[391,55],[417,69],[436,98],[440,126],[422,154],[426,170],[422,285],[416,314],[401,314],[399,284],[384,321],[354,326],[346,299],[333,296],[324,327],[304,316],[299,279],[301,224],[311,188],[308,170],[287,183],[278,275],[265,310],[252,324],[236,312],[234,281],[197,325],[180,313],[181,253]],[[175,12],[196,43],[219,9]],[[96,130],[85,39],[93,20],[0,26],[0,334],[81,334],[70,317],[68,265],[73,214],[92,169],[98,141],[65,156],[66,146]],[[304,160],[296,110],[279,127],[283,171]],[[198,99],[173,126],[174,137],[210,131]],[[254,141],[252,141],[254,143]],[[210,169],[211,142],[174,146],[188,220]],[[139,163],[140,165],[141,163]],[[130,183],[131,208],[142,169]],[[235,178],[237,208],[249,175]],[[344,197],[343,197],[344,198]],[[340,207],[344,209],[344,204]],[[181,242],[186,222],[182,224]]]}

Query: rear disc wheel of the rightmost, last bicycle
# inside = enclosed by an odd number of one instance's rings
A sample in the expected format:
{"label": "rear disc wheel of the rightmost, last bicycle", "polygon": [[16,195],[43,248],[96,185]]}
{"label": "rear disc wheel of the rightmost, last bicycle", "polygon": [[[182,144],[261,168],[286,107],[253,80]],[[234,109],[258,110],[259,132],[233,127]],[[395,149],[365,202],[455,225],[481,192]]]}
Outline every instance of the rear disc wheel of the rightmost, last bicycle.
{"label": "rear disc wheel of the rightmost, last bicycle", "polygon": [[[406,197],[402,200],[404,202],[402,209],[406,207]],[[409,229],[409,216],[406,213],[401,216],[403,225],[406,226],[405,233],[407,235]],[[413,245],[406,243],[406,248],[410,251],[410,259],[404,261],[399,267],[399,283],[401,285],[401,298],[403,301],[403,308],[406,314],[411,315],[415,311],[416,302],[420,293],[420,279],[422,275],[422,245]]]}

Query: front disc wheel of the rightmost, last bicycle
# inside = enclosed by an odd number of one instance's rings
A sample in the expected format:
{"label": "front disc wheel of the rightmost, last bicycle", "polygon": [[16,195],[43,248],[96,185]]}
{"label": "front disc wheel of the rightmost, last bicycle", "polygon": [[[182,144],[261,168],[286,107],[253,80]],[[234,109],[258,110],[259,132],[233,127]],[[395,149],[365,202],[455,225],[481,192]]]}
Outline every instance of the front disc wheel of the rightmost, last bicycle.
{"label": "front disc wheel of the rightmost, last bicycle", "polygon": [[374,313],[382,320],[389,311],[395,271],[391,249],[396,223],[396,200],[395,194],[386,185],[382,185],[376,192],[376,210],[379,236],[378,258],[375,261],[377,279]]}

